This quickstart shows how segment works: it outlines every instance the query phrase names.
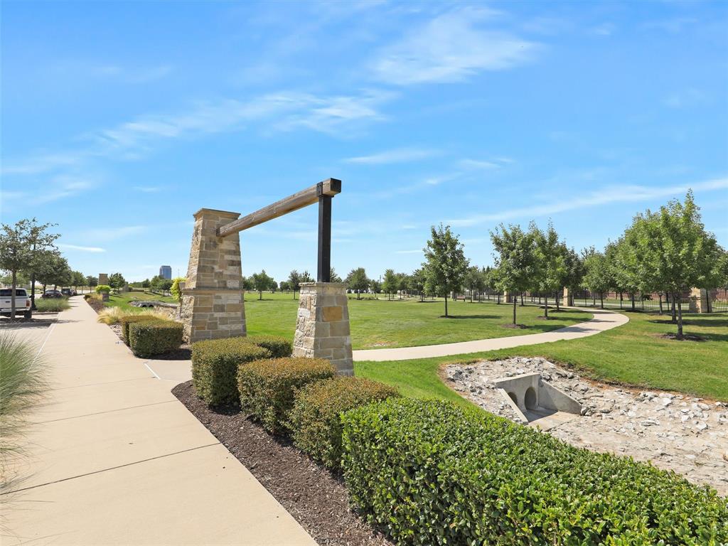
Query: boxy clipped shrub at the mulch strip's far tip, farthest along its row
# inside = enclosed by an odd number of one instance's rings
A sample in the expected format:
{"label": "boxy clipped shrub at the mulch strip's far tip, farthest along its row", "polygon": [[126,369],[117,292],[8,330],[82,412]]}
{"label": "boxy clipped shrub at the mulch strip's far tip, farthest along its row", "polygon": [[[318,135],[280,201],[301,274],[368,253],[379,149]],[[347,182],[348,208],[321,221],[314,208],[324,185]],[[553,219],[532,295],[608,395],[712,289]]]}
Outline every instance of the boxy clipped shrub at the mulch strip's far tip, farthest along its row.
{"label": "boxy clipped shrub at the mulch strip's far tip, farthest along its row", "polygon": [[192,383],[197,396],[208,405],[237,404],[238,365],[269,358],[265,347],[248,338],[207,339],[192,344]]}

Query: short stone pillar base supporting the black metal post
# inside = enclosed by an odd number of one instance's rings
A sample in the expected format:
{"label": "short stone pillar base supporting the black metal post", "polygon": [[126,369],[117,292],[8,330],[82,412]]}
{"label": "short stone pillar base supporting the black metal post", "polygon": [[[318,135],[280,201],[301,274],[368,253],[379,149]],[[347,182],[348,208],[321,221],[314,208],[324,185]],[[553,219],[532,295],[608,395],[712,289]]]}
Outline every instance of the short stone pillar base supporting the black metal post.
{"label": "short stone pillar base supporting the black metal post", "polygon": [[301,283],[293,356],[327,358],[339,375],[354,375],[346,285]]}

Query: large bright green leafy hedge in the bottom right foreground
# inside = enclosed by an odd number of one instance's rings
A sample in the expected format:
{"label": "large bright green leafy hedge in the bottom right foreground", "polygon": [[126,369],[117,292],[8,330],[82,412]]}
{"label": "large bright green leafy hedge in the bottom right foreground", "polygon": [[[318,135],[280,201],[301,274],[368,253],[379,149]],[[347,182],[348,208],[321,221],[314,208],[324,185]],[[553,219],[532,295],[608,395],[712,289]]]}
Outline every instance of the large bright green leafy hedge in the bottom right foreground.
{"label": "large bright green leafy hedge in the bottom right foreground", "polygon": [[397,543],[717,545],[728,502],[673,472],[451,403],[342,417],[349,494]]}

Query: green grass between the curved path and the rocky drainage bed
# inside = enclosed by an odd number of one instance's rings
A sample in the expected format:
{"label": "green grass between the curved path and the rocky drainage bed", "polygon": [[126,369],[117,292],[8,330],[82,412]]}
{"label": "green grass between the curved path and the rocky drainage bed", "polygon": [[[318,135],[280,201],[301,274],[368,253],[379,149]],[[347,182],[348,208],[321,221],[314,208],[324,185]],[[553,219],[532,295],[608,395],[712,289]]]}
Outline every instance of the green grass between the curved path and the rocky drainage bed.
{"label": "green grass between the curved path and the rocky drainage bed", "polygon": [[444,363],[541,356],[573,365],[579,373],[595,379],[728,400],[727,314],[686,315],[686,333],[701,336],[705,341],[662,339],[661,334],[675,331],[675,325],[665,322],[667,316],[625,314],[630,317],[629,323],[583,339],[454,357],[357,362],[355,372],[392,384],[404,395],[456,400],[459,395],[438,377]]}

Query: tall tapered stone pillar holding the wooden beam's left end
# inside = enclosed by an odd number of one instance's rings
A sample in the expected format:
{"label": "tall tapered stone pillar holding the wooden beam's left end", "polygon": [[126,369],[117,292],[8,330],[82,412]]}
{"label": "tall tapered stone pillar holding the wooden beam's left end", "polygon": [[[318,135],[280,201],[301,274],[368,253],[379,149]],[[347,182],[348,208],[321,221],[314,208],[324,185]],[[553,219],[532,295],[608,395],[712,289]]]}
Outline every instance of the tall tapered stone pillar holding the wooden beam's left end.
{"label": "tall tapered stone pillar holding the wooden beam's left end", "polygon": [[245,336],[245,303],[240,279],[239,234],[218,237],[219,226],[239,213],[202,208],[194,213],[181,319],[189,343]]}

